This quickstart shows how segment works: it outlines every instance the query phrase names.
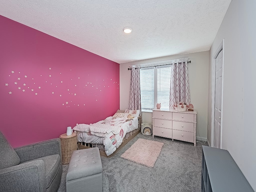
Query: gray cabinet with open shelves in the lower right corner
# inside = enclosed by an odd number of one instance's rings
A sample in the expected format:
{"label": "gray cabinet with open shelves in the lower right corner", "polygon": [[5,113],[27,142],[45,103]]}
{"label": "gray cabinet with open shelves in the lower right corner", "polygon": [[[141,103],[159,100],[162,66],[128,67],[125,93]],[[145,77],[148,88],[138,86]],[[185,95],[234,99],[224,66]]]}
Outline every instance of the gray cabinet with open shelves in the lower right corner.
{"label": "gray cabinet with open shelves in the lower right corner", "polygon": [[227,150],[202,146],[201,192],[254,192]]}

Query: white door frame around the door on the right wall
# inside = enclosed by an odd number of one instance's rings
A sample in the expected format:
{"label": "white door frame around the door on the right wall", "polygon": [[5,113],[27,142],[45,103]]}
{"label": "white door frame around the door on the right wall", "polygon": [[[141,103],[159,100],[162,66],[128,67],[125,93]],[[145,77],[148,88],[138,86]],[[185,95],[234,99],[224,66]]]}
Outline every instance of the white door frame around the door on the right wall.
{"label": "white door frame around the door on the right wall", "polygon": [[220,120],[220,148],[222,149],[222,125],[223,125],[223,81],[224,81],[224,56],[225,56],[225,50],[224,50],[224,39],[216,49],[213,58],[212,58],[212,122],[211,122],[211,146],[214,147],[214,108],[215,108],[215,75],[216,75],[216,58],[220,51],[223,52],[222,62],[223,62],[223,69],[222,69],[222,90],[221,90],[221,120]]}

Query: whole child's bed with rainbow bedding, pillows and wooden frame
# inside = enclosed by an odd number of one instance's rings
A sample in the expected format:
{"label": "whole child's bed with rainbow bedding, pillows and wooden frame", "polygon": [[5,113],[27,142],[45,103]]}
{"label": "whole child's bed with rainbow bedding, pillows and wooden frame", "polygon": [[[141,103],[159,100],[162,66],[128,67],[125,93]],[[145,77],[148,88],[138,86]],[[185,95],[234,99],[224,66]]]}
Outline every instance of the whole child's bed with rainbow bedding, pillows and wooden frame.
{"label": "whole child's bed with rainbow bedding, pillows and wooden frame", "polygon": [[141,122],[140,110],[117,110],[94,124],[76,124],[78,149],[98,147],[100,155],[110,157],[140,132]]}

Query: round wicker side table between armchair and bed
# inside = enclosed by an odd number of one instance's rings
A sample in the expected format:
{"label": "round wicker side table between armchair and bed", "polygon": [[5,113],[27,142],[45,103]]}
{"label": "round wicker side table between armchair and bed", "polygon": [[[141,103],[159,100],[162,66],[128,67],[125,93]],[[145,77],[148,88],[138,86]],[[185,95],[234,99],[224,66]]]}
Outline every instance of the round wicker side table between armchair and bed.
{"label": "round wicker side table between armchair and bed", "polygon": [[77,150],[77,135],[67,136],[66,133],[60,135],[61,153],[62,153],[62,164],[69,164],[73,151]]}

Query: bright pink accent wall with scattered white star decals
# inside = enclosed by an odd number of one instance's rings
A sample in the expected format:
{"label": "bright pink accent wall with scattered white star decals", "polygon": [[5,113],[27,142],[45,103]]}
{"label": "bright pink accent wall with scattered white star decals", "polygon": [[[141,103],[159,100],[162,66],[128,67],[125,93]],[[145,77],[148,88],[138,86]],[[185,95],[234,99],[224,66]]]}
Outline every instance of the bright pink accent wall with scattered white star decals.
{"label": "bright pink accent wall with scattered white star decals", "polygon": [[0,16],[0,130],[13,147],[119,108],[119,64]]}

